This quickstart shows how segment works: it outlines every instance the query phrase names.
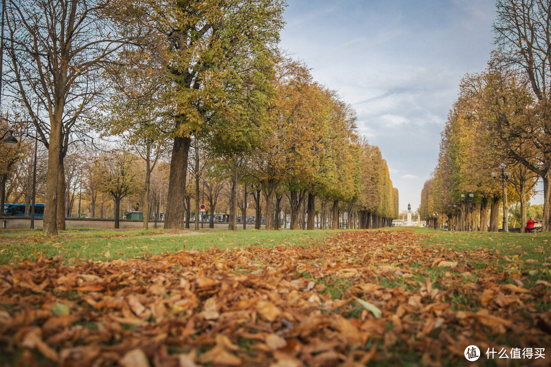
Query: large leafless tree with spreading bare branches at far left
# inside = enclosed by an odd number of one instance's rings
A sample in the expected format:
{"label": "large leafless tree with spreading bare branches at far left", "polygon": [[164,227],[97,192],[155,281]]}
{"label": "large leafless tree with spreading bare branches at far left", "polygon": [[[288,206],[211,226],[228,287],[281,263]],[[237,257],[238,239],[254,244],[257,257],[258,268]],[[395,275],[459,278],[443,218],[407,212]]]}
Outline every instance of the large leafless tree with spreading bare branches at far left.
{"label": "large leafless tree with spreading bare branches at far left", "polygon": [[85,116],[101,94],[102,65],[128,39],[117,36],[107,21],[114,13],[109,1],[9,0],[6,5],[7,85],[48,148],[43,231],[56,235],[58,224],[64,226],[58,198],[64,197],[63,158],[70,137],[83,132]]}

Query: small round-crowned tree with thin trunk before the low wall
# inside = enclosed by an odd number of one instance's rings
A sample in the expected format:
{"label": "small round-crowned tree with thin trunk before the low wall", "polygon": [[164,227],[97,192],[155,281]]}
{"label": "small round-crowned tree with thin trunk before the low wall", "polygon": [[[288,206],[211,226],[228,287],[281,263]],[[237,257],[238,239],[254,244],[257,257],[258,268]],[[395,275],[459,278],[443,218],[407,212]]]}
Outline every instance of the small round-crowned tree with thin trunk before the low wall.
{"label": "small round-crowned tree with thin trunk before the low wall", "polygon": [[114,200],[115,228],[119,228],[121,200],[139,192],[142,174],[136,167],[136,157],[127,151],[112,150],[95,161],[98,190],[111,194]]}

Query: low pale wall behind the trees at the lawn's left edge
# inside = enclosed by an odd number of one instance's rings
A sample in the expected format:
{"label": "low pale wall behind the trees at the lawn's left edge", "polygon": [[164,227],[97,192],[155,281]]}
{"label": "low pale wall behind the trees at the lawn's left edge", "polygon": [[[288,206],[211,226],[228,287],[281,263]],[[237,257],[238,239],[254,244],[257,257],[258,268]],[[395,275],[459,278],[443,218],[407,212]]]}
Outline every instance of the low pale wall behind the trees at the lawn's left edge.
{"label": "low pale wall behind the trees at the lawn's left edge", "polygon": [[[41,228],[44,220],[35,218],[34,227]],[[208,228],[208,222],[199,222],[199,228]],[[66,227],[90,227],[90,228],[115,228],[114,219],[104,218],[65,218]],[[164,221],[157,221],[156,227],[154,221],[149,221],[149,228],[163,228]],[[31,218],[21,216],[2,216],[0,217],[0,228],[30,228]],[[190,227],[195,228],[195,222],[190,223]],[[263,227],[263,225],[262,225]],[[143,228],[141,219],[121,219],[119,228]],[[215,222],[214,228],[228,228],[228,222]],[[237,228],[243,228],[242,223],[237,223]],[[255,228],[255,223],[247,223],[247,228]]]}

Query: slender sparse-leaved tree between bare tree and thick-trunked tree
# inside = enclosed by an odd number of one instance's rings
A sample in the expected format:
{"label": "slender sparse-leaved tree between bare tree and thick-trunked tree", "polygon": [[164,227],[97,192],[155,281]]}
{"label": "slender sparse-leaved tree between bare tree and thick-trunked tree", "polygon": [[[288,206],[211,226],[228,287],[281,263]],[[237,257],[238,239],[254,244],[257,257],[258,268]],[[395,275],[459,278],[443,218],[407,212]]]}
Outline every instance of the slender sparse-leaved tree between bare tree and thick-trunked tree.
{"label": "slender sparse-leaved tree between bare tree and thick-trunked tree", "polygon": [[102,116],[94,127],[105,135],[119,135],[145,162],[143,228],[149,226],[150,182],[155,165],[168,150],[170,94],[161,60],[153,41],[144,48],[131,48],[118,55],[106,74],[112,92],[102,105]]}

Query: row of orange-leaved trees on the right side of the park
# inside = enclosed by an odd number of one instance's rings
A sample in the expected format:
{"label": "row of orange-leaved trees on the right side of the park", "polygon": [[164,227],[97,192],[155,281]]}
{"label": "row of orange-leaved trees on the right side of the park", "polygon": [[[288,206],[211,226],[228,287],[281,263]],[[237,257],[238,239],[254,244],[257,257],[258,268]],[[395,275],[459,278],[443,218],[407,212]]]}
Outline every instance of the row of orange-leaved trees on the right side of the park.
{"label": "row of orange-leaved trees on the right side of the park", "polygon": [[[484,72],[462,79],[419,211],[433,226],[449,220],[451,228],[498,231],[502,196],[505,217],[507,202],[519,202],[526,223],[539,179],[543,231],[550,231],[551,31],[544,25],[551,22],[551,4],[499,0],[496,14],[498,47]],[[505,187],[504,172],[511,174]]]}

